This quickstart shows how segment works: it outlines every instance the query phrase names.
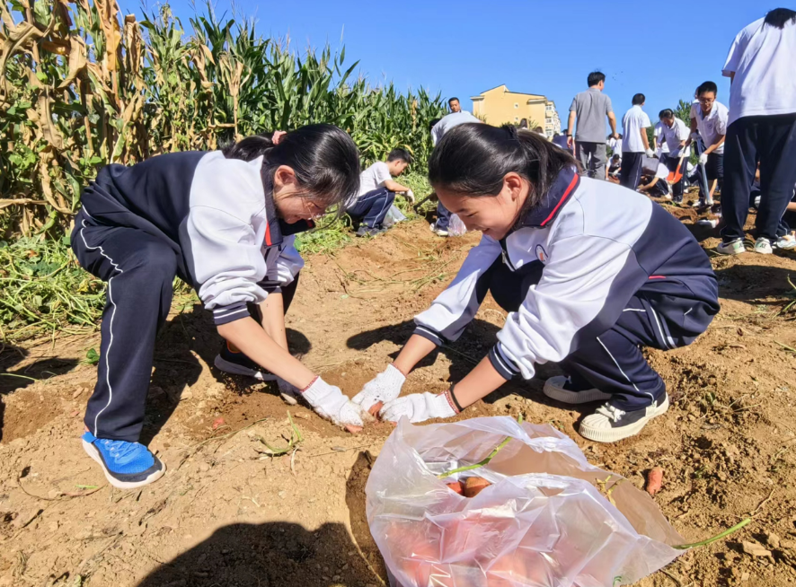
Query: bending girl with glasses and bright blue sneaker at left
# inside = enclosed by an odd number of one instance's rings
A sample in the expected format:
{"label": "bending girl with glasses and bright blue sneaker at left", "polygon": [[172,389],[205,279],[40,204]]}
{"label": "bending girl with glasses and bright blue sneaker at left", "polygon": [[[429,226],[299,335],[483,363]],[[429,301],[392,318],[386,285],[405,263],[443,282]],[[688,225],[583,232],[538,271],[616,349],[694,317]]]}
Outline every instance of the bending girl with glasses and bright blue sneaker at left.
{"label": "bending girl with glasses and bright blue sneaker at left", "polygon": [[332,206],[342,214],[358,178],[351,138],[313,125],[223,151],[109,165],[84,189],[72,248],[108,288],[83,445],[111,485],[143,486],[164,474],[137,441],[175,276],[196,288],[226,339],[217,367],[277,378],[289,401],[302,397],[335,424],[362,425],[360,407],[290,355],[284,320],[304,265],[295,233]]}

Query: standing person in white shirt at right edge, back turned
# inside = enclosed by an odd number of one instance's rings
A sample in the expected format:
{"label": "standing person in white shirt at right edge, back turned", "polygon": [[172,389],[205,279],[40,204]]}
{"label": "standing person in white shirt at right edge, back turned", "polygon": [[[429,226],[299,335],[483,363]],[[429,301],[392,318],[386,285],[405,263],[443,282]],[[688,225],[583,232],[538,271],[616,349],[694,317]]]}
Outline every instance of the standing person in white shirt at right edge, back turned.
{"label": "standing person in white shirt at right edge, back turned", "polygon": [[[732,79],[719,252],[744,252],[749,194],[760,162],[755,252],[771,253],[796,184],[796,12],[777,8],[732,42],[722,74]],[[785,243],[783,243],[785,244]]]}

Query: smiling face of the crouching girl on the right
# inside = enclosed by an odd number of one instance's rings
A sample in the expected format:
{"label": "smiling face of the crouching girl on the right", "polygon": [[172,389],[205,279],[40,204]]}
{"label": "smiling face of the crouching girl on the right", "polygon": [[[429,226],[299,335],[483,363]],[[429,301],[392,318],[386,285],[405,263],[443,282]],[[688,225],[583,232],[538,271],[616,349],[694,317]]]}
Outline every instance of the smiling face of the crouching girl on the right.
{"label": "smiling face of the crouching girl on the right", "polygon": [[468,231],[481,231],[496,241],[504,238],[528,197],[530,184],[517,173],[507,173],[497,196],[470,196],[438,188],[437,196],[445,206],[462,219]]}

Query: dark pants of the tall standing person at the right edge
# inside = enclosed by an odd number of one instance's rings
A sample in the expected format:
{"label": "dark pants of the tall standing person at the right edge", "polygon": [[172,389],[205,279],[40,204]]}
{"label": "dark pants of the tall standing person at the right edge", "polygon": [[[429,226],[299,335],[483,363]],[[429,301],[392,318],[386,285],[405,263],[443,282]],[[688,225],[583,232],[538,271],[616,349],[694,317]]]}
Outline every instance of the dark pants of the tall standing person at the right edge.
{"label": "dark pants of the tall standing person at the right edge", "polygon": [[749,193],[760,162],[760,207],[756,237],[774,241],[796,185],[796,114],[739,118],[727,129],[721,193],[724,242],[743,239]]}

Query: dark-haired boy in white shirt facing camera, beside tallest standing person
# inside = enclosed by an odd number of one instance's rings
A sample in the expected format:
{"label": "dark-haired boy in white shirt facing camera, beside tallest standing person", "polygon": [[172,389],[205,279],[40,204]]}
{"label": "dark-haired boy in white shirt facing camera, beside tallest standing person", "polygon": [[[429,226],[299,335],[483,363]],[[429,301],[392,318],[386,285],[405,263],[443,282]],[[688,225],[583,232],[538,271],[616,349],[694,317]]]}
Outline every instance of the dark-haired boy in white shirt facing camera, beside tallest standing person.
{"label": "dark-haired boy in white shirt facing camera, beside tallest standing person", "polygon": [[[721,190],[724,185],[724,139],[727,136],[727,120],[730,111],[721,102],[716,101],[718,88],[713,82],[705,82],[696,89],[697,103],[691,107],[691,138],[702,139],[704,151],[699,155],[700,177],[704,166],[708,189],[712,181],[716,181]],[[689,141],[690,142],[690,141]],[[702,181],[699,182],[700,204],[712,202],[713,193],[705,194]]]}

